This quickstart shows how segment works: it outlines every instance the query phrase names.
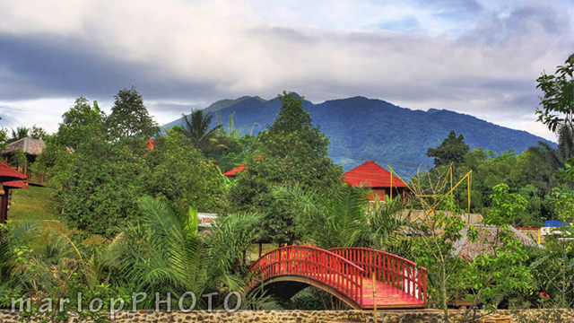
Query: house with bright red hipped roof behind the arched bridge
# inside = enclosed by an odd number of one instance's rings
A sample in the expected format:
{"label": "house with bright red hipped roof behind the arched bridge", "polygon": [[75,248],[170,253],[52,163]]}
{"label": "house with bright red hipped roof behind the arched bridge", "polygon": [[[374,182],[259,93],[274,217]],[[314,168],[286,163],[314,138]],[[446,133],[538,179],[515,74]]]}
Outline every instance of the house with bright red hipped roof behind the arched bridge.
{"label": "house with bright red hipped roof behind the arched bridge", "polygon": [[370,196],[374,200],[375,195],[382,201],[385,196],[391,195],[391,187],[393,190],[393,197],[403,196],[408,187],[402,179],[392,175],[388,170],[385,170],[376,162],[365,162],[352,170],[343,174],[344,182],[352,186],[361,186],[370,188],[373,194]]}

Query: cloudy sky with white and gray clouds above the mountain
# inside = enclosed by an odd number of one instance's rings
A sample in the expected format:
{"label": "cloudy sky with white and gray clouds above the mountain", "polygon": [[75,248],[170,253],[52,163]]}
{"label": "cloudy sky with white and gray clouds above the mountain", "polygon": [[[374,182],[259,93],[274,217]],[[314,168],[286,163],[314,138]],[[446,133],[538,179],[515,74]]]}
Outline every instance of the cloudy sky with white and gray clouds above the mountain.
{"label": "cloudy sky with white and gray clouds above the mountain", "polygon": [[452,109],[553,138],[535,79],[574,52],[570,0],[0,0],[0,126],[57,130],[135,85],[158,122],[283,90]]}

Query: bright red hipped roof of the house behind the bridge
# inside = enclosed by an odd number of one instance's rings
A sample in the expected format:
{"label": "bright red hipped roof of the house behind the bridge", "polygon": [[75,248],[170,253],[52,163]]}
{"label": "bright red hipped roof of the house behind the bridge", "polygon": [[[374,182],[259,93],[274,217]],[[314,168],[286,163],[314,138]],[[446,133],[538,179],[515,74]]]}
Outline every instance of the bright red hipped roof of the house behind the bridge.
{"label": "bright red hipped roof of the house behind the bridge", "polygon": [[[365,162],[343,174],[344,182],[352,186],[365,183],[366,188],[390,188],[391,173],[376,162]],[[392,176],[393,188],[406,188],[404,181]]]}

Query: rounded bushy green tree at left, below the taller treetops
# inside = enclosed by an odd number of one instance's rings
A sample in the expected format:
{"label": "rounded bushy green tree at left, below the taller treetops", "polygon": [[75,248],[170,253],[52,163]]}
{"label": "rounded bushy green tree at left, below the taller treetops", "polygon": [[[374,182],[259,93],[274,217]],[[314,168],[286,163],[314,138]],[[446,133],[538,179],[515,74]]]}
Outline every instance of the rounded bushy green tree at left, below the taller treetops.
{"label": "rounded bushy green tree at left, below the taller treetops", "polygon": [[66,176],[54,183],[63,188],[56,194],[61,216],[78,229],[106,236],[120,223],[139,219],[136,199],[146,193],[152,171],[143,159],[145,146],[143,139],[124,144],[93,136],[68,153],[70,158],[58,158],[54,170]]}

